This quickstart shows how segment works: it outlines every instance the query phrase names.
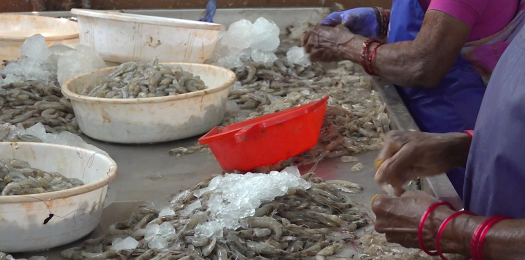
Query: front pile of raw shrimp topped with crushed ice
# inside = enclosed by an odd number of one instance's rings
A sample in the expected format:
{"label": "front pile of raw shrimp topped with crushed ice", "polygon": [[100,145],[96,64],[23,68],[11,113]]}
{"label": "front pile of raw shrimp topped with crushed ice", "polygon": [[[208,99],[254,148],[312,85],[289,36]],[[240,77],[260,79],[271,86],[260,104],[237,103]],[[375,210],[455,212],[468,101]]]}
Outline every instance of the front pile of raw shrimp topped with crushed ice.
{"label": "front pile of raw shrimp topped with crushed ice", "polygon": [[[292,177],[301,184],[287,189],[284,195],[261,201],[253,214],[239,220],[244,224],[238,228],[206,232],[205,227],[214,222],[212,217],[225,214],[214,208],[220,203],[211,203],[222,192],[209,186],[216,185],[221,178],[244,177],[212,176],[175,195],[169,206],[140,207],[129,220],[110,226],[106,234],[61,255],[75,260],[324,259],[355,241],[356,230],[367,224],[366,215],[351,199],[361,186],[346,181],[323,181],[309,173]],[[269,178],[269,175],[258,177]],[[217,211],[222,213],[213,213]]]}

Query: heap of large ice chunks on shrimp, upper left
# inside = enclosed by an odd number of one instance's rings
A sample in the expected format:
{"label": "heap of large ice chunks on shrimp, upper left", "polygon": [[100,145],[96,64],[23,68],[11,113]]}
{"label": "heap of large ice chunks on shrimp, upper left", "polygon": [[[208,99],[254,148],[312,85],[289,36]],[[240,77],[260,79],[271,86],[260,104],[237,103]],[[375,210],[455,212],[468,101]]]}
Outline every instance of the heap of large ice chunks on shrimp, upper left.
{"label": "heap of large ice chunks on shrimp, upper left", "polygon": [[67,79],[106,67],[98,53],[88,46],[76,49],[55,43],[48,47],[40,34],[28,37],[19,49],[20,59],[8,61],[0,70],[0,86],[18,81],[38,81],[46,85],[63,84]]}

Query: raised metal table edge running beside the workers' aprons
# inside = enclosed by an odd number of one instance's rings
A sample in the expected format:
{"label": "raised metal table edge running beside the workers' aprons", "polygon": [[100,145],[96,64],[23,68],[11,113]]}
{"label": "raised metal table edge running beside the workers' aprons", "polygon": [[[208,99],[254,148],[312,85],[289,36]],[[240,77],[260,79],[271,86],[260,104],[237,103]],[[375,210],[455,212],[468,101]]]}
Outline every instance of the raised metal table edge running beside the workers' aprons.
{"label": "raised metal table edge running beside the workers' aprons", "polygon": [[[408,112],[403,100],[397,93],[395,87],[384,83],[381,79],[376,80],[375,90],[379,91],[386,105],[386,112],[391,120],[391,128],[396,130],[419,131],[416,122]],[[440,174],[433,177],[422,178],[421,189],[440,200],[447,201],[456,209],[463,209],[463,201],[459,198],[454,186],[448,180],[447,175]]]}

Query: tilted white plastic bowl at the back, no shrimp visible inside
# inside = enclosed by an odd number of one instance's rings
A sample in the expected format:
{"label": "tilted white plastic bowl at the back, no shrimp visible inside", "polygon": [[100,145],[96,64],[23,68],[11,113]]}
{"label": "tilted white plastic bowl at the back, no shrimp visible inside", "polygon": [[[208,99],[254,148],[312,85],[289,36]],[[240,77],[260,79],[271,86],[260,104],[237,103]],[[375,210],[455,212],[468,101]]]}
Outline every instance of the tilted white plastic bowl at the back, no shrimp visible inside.
{"label": "tilted white plastic bowl at the back, no shrimp visible inside", "polygon": [[80,43],[104,60],[125,63],[203,63],[212,55],[225,26],[175,18],[71,9],[77,15]]}

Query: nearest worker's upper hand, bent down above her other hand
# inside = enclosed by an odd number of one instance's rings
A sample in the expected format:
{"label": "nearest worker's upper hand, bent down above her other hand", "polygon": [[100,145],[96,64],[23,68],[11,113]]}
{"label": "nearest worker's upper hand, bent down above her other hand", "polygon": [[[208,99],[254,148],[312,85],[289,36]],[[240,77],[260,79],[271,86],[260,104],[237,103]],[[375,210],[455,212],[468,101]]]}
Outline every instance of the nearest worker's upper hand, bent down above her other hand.
{"label": "nearest worker's upper hand, bent down above her other hand", "polygon": [[388,132],[378,156],[384,162],[375,174],[375,181],[392,185],[399,196],[408,181],[466,164],[469,147],[470,137],[464,133]]}

